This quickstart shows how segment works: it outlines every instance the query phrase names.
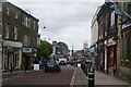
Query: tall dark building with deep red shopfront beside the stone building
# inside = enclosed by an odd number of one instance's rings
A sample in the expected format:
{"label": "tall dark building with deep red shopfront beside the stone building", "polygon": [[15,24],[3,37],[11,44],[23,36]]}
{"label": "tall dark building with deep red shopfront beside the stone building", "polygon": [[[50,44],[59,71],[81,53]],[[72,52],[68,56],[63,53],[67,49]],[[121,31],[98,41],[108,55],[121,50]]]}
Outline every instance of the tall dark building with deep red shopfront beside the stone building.
{"label": "tall dark building with deep red shopfront beside the stone building", "polygon": [[116,75],[117,73],[117,16],[112,3],[105,2],[98,12],[98,70]]}

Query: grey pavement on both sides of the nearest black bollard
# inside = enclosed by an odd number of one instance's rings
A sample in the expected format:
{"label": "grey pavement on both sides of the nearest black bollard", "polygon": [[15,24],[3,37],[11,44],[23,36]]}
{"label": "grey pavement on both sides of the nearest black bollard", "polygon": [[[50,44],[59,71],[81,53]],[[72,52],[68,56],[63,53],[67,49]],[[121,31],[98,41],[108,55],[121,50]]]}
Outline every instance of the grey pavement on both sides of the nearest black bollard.
{"label": "grey pavement on both sides of the nearest black bollard", "polygon": [[[72,77],[71,85],[88,85],[88,77],[83,73],[81,67],[76,67]],[[103,72],[95,71],[95,86],[97,87],[131,87],[131,85],[115,76],[104,74]],[[72,86],[73,87],[73,86]]]}

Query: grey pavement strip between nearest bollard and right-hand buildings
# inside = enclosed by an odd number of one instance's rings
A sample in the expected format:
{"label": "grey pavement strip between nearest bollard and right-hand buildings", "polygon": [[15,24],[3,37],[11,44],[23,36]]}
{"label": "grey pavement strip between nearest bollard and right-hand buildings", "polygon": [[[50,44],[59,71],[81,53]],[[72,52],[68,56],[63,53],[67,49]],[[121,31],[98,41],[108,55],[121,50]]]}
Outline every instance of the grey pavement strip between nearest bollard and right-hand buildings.
{"label": "grey pavement strip between nearest bollard and right-hand buildings", "polygon": [[95,85],[129,85],[129,83],[118,79],[115,76],[95,71]]}

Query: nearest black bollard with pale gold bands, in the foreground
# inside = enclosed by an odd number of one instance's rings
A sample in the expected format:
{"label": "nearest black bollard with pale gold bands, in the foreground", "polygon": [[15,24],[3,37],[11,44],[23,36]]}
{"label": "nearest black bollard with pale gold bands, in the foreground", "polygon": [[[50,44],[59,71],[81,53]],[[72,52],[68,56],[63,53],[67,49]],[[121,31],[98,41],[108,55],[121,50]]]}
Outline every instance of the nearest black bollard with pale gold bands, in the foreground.
{"label": "nearest black bollard with pale gold bands, in the foreground", "polygon": [[95,79],[94,79],[94,71],[91,67],[91,71],[88,71],[88,87],[95,87]]}

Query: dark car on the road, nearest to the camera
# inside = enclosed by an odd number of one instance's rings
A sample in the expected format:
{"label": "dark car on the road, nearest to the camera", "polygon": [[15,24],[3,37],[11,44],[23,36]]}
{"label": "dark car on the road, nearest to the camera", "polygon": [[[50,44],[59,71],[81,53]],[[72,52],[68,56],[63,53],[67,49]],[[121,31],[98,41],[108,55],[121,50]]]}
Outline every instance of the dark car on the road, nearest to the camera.
{"label": "dark car on the road, nearest to the camera", "polygon": [[45,73],[47,73],[47,72],[52,72],[52,71],[55,71],[55,72],[60,72],[60,66],[59,66],[59,64],[58,64],[57,61],[55,61],[55,60],[49,60],[49,61],[47,61],[46,64],[45,64]]}

